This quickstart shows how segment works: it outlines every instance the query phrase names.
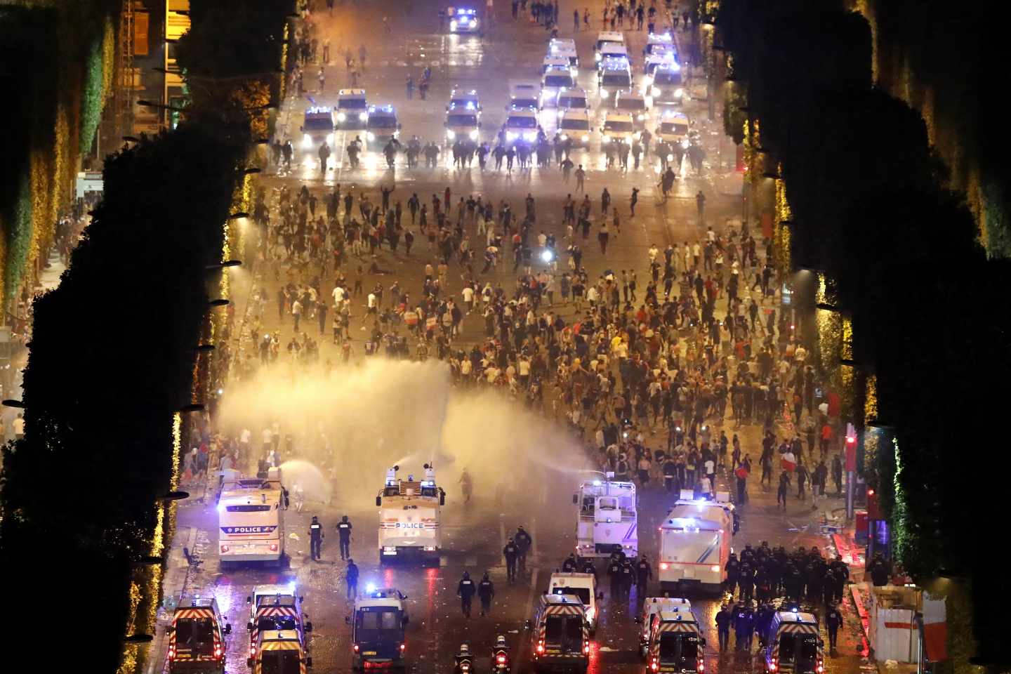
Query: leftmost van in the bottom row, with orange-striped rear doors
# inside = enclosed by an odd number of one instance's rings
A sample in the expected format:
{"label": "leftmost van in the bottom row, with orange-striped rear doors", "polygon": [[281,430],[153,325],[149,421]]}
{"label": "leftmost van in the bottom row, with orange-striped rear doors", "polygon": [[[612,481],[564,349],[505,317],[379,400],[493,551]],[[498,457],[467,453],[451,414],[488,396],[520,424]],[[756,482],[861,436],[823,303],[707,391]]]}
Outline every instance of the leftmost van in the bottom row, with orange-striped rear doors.
{"label": "leftmost van in the bottom row, with orange-striped rear doors", "polygon": [[227,619],[221,616],[213,597],[203,599],[198,594],[176,606],[168,628],[166,664],[170,674],[224,674],[224,638],[232,634]]}

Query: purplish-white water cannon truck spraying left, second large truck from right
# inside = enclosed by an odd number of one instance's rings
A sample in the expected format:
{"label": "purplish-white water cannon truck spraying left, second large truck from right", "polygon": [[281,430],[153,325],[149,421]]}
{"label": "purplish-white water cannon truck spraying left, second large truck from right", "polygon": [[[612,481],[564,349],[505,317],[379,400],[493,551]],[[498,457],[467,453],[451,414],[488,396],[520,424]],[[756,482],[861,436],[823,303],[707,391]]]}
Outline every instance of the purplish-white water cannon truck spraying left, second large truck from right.
{"label": "purplish-white water cannon truck spraying left, second large truck from right", "polygon": [[621,552],[626,557],[639,554],[638,500],[635,484],[614,479],[586,480],[572,495],[578,506],[576,548],[579,557],[610,557]]}

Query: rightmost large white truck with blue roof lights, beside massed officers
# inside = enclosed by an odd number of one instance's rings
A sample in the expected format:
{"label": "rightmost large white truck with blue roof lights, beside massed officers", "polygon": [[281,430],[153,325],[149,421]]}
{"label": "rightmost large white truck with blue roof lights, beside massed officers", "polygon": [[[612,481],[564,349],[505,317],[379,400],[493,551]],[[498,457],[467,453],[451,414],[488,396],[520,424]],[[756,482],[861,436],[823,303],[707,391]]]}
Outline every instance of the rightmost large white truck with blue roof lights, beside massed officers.
{"label": "rightmost large white truck with blue roof lights, beside massed officers", "polygon": [[733,504],[675,502],[660,524],[660,587],[671,594],[685,586],[719,591],[736,533]]}

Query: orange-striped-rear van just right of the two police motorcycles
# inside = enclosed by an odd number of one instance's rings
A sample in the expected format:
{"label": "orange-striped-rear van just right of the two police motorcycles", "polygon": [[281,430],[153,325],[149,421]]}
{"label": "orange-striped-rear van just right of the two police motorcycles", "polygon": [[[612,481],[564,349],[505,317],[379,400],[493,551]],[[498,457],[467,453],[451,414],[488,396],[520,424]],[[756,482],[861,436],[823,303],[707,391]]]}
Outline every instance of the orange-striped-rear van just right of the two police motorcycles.
{"label": "orange-striped-rear van just right of the two police motorcycles", "polygon": [[586,671],[589,632],[579,597],[542,594],[534,618],[527,621],[527,630],[535,672],[548,669]]}

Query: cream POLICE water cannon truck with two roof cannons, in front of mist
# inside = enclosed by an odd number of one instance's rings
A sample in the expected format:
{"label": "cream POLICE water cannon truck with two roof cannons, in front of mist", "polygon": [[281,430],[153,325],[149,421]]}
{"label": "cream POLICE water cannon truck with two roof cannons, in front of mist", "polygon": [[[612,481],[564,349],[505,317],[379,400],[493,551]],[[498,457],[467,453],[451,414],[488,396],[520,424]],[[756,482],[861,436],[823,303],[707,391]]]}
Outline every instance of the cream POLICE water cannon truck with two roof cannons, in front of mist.
{"label": "cream POLICE water cannon truck with two roof cannons, in front of mist", "polygon": [[436,484],[435,468],[425,464],[425,479],[396,477],[399,466],[386,471],[386,482],[376,496],[379,508],[379,563],[401,559],[438,565],[442,549],[440,507],[446,492]]}

